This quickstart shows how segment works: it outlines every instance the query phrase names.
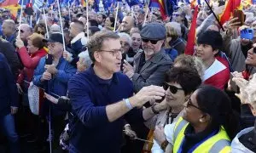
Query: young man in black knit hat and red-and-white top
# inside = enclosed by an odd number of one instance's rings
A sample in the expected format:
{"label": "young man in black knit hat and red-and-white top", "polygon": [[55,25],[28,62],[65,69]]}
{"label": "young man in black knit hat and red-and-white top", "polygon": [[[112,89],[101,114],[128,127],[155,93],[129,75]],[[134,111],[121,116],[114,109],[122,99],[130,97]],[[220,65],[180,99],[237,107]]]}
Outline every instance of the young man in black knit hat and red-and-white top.
{"label": "young man in black knit hat and red-and-white top", "polygon": [[223,39],[218,31],[205,31],[197,39],[195,55],[202,59],[206,71],[203,76],[205,84],[224,89],[230,80],[229,64],[217,57],[219,49],[223,48]]}

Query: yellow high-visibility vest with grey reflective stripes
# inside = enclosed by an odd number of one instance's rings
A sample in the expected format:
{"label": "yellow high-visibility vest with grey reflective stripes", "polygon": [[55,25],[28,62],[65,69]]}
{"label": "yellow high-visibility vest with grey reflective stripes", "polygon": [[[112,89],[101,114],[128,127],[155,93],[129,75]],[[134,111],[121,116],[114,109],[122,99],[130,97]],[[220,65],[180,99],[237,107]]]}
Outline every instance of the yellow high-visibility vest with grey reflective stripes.
{"label": "yellow high-visibility vest with grey reflective stripes", "polygon": [[[183,117],[180,117],[174,127],[173,135],[173,152],[177,153],[181,145],[183,144],[184,131],[188,127],[189,122],[183,120]],[[199,146],[193,150],[193,153],[229,153],[231,152],[230,147],[230,138],[226,133],[224,127],[220,127],[218,133],[212,137],[206,139]]]}

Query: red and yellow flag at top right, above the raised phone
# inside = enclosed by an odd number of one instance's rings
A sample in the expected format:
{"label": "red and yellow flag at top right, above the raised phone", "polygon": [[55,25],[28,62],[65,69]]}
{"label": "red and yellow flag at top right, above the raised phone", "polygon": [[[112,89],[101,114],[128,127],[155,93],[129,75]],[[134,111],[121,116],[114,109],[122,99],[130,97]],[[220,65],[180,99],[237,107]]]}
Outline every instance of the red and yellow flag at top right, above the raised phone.
{"label": "red and yellow flag at top right, above the raised phone", "polygon": [[230,20],[230,16],[233,14],[235,9],[242,9],[241,0],[228,0],[224,8],[224,13],[219,15],[221,25]]}

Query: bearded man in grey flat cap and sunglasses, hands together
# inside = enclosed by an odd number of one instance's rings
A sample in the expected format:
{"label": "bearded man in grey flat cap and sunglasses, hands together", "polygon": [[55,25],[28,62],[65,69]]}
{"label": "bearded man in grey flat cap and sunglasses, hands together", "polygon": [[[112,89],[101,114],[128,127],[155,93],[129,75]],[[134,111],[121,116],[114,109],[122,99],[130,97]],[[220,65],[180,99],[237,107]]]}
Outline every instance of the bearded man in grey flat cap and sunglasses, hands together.
{"label": "bearded man in grey flat cap and sunglasses, hands together", "polygon": [[135,92],[149,85],[161,86],[165,72],[171,68],[172,59],[166,54],[163,43],[166,28],[160,23],[150,23],[141,31],[143,52],[134,57],[135,70],[126,61],[125,75],[133,82]]}

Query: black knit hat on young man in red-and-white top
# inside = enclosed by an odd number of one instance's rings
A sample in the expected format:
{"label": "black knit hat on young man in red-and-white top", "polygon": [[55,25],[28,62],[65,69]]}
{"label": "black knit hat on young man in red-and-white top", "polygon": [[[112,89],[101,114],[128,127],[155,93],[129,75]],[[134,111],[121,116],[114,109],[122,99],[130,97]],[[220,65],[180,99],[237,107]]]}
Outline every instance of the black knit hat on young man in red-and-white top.
{"label": "black knit hat on young man in red-and-white top", "polygon": [[198,44],[207,44],[212,48],[223,48],[223,39],[218,31],[205,31],[197,38]]}

